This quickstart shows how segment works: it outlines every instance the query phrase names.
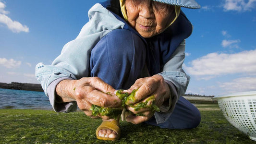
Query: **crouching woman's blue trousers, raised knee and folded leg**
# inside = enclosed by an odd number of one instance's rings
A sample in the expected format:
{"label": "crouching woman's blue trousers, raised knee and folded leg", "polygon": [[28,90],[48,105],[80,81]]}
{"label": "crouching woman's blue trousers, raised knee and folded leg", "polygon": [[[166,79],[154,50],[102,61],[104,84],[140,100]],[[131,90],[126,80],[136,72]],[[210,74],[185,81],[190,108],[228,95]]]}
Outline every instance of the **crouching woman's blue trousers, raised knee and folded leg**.
{"label": "crouching woman's blue trousers, raised knee and folded leg", "polygon": [[[140,78],[146,60],[146,46],[142,39],[125,29],[113,30],[92,49],[90,74],[99,77],[115,89],[129,89]],[[171,117],[157,124],[155,117],[147,124],[169,129],[191,129],[198,126],[200,112],[180,97]]]}

